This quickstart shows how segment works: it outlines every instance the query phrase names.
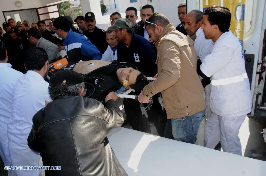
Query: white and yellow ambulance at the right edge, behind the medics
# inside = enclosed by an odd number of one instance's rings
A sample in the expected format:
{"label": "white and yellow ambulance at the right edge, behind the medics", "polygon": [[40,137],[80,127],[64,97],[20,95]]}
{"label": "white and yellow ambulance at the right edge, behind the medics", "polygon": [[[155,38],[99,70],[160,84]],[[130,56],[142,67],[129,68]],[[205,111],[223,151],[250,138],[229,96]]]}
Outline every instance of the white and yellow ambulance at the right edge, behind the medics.
{"label": "white and yellow ambulance at the right edge, behind the medics", "polygon": [[266,1],[186,0],[187,12],[204,11],[213,5],[225,6],[232,14],[230,30],[242,42],[246,73],[252,93],[249,118],[266,121]]}

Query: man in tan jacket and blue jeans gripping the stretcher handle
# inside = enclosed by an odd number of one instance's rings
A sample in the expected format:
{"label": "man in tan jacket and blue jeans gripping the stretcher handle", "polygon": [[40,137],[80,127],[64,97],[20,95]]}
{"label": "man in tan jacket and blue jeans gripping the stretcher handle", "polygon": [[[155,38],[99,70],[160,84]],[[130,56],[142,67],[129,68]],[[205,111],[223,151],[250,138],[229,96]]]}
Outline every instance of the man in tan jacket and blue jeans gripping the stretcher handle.
{"label": "man in tan jacket and blue jeans gripping the stretcher handle", "polygon": [[194,41],[176,31],[169,19],[160,13],[150,16],[145,28],[156,42],[158,77],[143,88],[139,101],[147,103],[150,97],[162,92],[174,139],[194,144],[206,108],[204,90],[196,72]]}

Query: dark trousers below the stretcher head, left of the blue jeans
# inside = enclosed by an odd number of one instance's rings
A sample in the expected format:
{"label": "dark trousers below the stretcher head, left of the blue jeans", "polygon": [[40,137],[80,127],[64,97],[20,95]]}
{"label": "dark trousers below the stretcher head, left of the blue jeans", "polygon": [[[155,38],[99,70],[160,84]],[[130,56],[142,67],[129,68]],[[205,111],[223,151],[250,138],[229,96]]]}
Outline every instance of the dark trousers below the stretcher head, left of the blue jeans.
{"label": "dark trousers below the stretcher head, left of the blue jeans", "polygon": [[[150,125],[148,124],[149,119],[149,121],[155,125],[158,134],[160,136],[164,136],[167,116],[163,113],[162,106],[158,100],[158,94],[153,96],[153,105],[151,106],[150,110],[147,110],[148,119],[141,113],[140,102],[134,99],[124,98],[123,103],[126,119],[129,121],[132,129],[151,133]],[[144,103],[144,106],[147,107],[147,103]]]}

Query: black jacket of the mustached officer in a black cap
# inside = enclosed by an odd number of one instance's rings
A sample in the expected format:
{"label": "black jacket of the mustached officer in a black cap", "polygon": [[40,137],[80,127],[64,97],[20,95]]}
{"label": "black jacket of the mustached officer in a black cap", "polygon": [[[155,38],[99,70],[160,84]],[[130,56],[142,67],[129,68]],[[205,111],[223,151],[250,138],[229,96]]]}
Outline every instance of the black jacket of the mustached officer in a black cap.
{"label": "black jacket of the mustached officer in a black cap", "polygon": [[98,48],[98,50],[103,54],[107,47],[108,43],[106,42],[106,31],[103,29],[99,29],[95,26],[93,32],[89,32],[89,30],[86,30],[83,32],[83,35],[85,35],[90,42]]}

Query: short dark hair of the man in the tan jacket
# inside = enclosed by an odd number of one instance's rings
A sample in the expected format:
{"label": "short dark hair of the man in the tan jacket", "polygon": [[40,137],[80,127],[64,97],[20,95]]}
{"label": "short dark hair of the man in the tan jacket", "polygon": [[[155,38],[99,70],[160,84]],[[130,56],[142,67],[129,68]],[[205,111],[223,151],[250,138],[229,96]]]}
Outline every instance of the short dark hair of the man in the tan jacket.
{"label": "short dark hair of the man in the tan jacket", "polygon": [[[164,14],[161,14],[161,13],[158,13],[158,12],[152,14],[147,19],[147,21],[151,22],[151,23],[154,23],[154,24],[157,24],[158,26],[161,26],[161,27],[166,27],[168,24],[170,24],[170,20]],[[154,24],[145,23],[145,27],[149,26],[150,29],[152,29],[154,31],[154,29],[155,29],[155,25]]]}

